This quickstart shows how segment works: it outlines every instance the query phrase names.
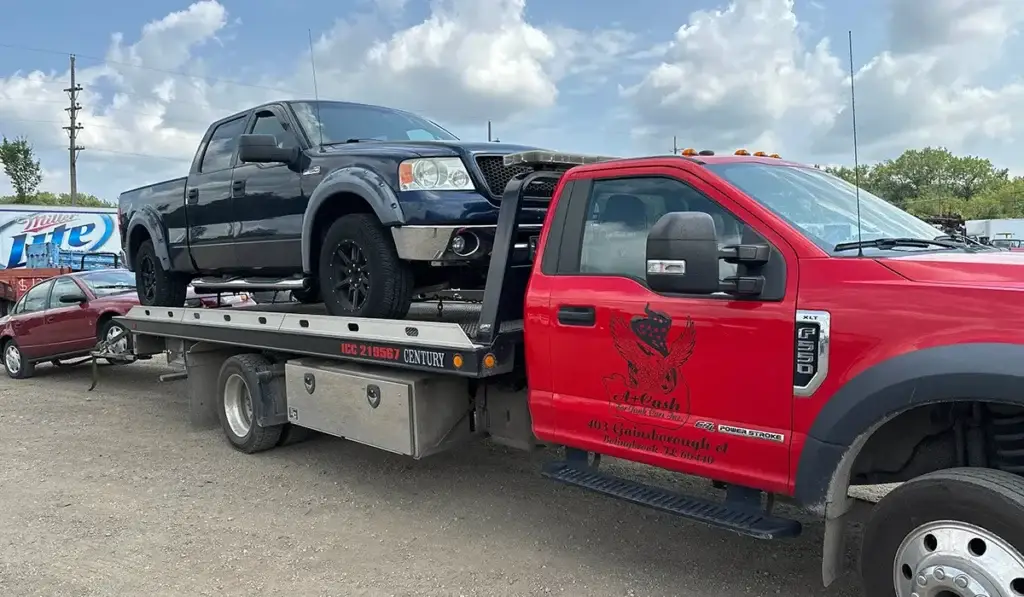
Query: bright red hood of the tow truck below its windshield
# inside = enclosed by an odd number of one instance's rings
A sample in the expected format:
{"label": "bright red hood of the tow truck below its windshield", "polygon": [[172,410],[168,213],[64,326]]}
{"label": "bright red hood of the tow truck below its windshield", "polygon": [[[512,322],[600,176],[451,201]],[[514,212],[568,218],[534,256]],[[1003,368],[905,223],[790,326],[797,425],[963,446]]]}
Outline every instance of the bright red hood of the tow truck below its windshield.
{"label": "bright red hood of the tow truck below its windshield", "polygon": [[926,253],[880,259],[914,282],[1024,288],[1024,253]]}

